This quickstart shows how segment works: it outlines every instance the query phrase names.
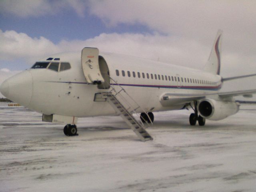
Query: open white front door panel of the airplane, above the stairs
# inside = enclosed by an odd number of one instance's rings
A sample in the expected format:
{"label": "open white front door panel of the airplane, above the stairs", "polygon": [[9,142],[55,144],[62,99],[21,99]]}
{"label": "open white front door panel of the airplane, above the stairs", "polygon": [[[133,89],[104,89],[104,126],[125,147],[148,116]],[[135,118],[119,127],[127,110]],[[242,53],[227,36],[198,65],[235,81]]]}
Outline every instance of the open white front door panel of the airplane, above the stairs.
{"label": "open white front door panel of the airplane, above the stairs", "polygon": [[98,48],[85,47],[82,50],[81,62],[84,76],[88,83],[101,84],[104,78],[100,73]]}

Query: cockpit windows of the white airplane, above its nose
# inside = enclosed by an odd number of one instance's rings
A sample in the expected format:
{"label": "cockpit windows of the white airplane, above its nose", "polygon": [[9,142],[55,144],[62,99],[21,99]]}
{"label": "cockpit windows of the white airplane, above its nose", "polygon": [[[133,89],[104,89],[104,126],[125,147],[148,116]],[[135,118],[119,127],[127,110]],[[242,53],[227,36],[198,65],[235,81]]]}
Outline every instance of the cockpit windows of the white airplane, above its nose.
{"label": "cockpit windows of the white airplane, above its nose", "polygon": [[50,70],[54,71],[64,71],[71,68],[70,64],[68,62],[36,62],[32,69],[42,69],[42,68],[48,68]]}

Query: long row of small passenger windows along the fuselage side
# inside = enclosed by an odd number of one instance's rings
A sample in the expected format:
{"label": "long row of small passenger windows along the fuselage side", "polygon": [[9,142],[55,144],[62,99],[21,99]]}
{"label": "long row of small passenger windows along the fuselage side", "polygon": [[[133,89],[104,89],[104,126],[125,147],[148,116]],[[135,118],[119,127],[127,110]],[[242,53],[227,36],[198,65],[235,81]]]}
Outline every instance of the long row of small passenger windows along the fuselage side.
{"label": "long row of small passenger windows along the fuselage side", "polygon": [[[122,70],[121,71],[122,72],[122,76],[123,77],[125,77],[126,76],[126,73],[125,73],[125,71],[124,70]],[[120,76],[120,73],[119,73],[119,70],[116,70],[116,76]],[[127,71],[127,76],[128,77],[131,77],[131,73],[130,73],[130,71]],[[133,77],[136,77],[136,72],[132,72],[132,76]],[[140,78],[140,72],[137,72],[137,76],[138,76],[138,78]],[[210,81],[206,81],[206,80],[200,80],[200,79],[192,79],[192,78],[183,78],[183,77],[176,77],[176,76],[167,76],[167,75],[159,75],[159,74],[148,74],[148,73],[143,73],[142,72],[142,78],[150,78],[151,77],[151,79],[158,79],[158,80],[161,80],[161,78],[162,78],[162,80],[166,80],[166,81],[177,81],[178,80],[178,82],[190,82],[190,83],[197,83],[197,84],[207,84],[207,85],[213,85],[214,83],[213,82],[210,82]]]}

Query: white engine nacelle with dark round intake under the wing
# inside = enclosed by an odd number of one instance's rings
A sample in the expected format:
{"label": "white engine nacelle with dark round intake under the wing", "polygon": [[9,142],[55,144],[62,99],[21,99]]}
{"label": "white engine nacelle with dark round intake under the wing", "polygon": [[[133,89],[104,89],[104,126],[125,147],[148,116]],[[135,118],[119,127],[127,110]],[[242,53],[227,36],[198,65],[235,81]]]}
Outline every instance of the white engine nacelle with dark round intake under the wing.
{"label": "white engine nacelle with dark round intake under the wing", "polygon": [[232,101],[202,100],[198,105],[199,114],[209,120],[222,120],[234,115],[239,110],[239,104]]}

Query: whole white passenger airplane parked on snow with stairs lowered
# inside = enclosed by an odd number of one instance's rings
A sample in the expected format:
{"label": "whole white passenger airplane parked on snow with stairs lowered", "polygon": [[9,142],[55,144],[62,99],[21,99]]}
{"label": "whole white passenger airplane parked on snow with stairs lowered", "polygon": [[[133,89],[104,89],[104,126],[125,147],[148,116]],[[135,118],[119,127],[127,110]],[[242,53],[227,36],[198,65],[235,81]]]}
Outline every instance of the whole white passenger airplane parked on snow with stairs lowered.
{"label": "whole white passenger airplane parked on snow with stairs lowered", "polygon": [[236,114],[234,96],[256,93],[220,92],[225,81],[256,75],[220,76],[221,39],[219,30],[202,70],[85,47],[37,61],[5,80],[0,92],[45,122],[66,124],[67,136],[78,135],[80,117],[120,115],[140,140],[152,140],[145,128],[154,122],[153,112],[192,108],[190,125],[204,126],[206,119]]}

